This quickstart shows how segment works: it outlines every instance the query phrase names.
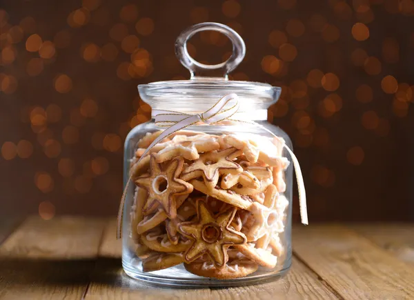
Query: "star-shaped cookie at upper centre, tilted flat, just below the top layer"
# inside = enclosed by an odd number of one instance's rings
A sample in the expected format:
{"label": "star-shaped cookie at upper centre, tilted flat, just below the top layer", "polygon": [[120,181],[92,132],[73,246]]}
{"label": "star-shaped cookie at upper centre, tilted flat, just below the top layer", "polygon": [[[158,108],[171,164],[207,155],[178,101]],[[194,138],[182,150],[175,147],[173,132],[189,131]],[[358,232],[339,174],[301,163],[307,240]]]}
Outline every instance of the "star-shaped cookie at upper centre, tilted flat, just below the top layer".
{"label": "star-shaped cookie at upper centre, tilted flat, just below the top layer", "polygon": [[243,172],[243,168],[233,161],[240,154],[242,152],[236,148],[201,154],[199,159],[182,172],[181,179],[189,181],[197,177],[203,177],[206,186],[213,189],[217,186],[220,174],[239,174]]}

